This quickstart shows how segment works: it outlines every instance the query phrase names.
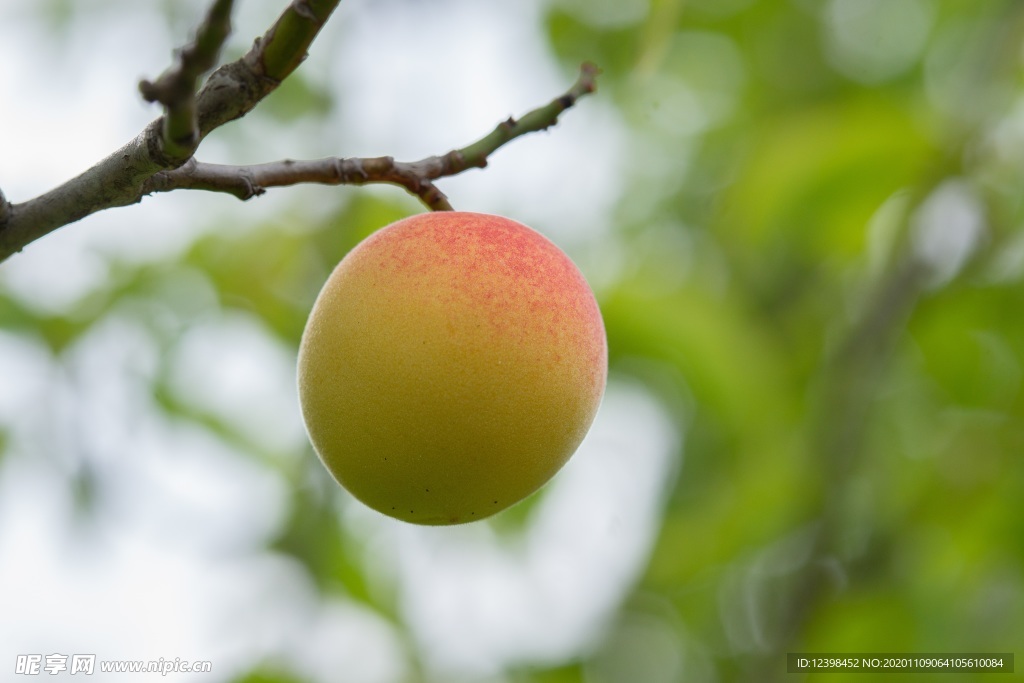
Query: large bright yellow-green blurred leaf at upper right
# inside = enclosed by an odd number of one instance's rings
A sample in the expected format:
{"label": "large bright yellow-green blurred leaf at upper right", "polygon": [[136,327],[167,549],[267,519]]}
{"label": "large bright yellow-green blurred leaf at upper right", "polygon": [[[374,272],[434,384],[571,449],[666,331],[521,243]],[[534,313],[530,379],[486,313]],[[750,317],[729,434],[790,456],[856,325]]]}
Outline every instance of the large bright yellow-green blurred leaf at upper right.
{"label": "large bright yellow-green blurred leaf at upper right", "polygon": [[934,159],[912,104],[871,93],[756,123],[717,228],[752,268],[858,258],[871,215]]}

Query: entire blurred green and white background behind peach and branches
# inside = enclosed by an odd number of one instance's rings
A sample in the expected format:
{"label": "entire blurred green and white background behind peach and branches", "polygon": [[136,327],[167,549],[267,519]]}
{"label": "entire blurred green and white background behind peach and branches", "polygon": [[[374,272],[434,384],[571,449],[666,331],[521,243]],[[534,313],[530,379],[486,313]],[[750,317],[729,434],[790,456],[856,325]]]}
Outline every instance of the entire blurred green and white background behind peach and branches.
{"label": "entire blurred green and white background behind peach and branches", "polygon": [[[228,58],[284,2],[238,4]],[[7,197],[155,118],[136,83],[205,5],[0,1]],[[0,265],[0,678],[57,652],[204,682],[842,680],[785,653],[1013,651],[1022,38],[1018,0],[345,0],[199,158],[441,154],[597,62],[556,128],[440,185],[593,285],[591,434],[490,521],[379,516],[312,453],[295,353],[333,265],[422,207],[91,216]]]}

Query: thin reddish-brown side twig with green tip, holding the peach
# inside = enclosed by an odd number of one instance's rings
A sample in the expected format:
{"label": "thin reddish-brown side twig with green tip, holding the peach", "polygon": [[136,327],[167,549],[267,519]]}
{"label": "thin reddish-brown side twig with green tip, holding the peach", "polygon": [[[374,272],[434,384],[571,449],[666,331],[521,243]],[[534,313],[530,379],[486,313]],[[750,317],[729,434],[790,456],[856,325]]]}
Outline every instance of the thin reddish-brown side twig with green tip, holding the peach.
{"label": "thin reddish-brown side twig with green tip, holding the peach", "polygon": [[546,130],[558,122],[559,115],[575,101],[595,90],[599,70],[591,63],[581,67],[580,78],[564,94],[540,106],[518,121],[500,123],[485,137],[442,156],[416,162],[396,162],[391,157],[341,159],[329,157],[311,161],[284,161],[253,166],[204,164],[190,160],[180,168],[157,173],[142,187],[143,194],[175,189],[205,189],[226,193],[241,200],[262,195],[269,187],[299,183],[326,185],[364,185],[386,182],[399,185],[416,195],[434,211],[451,211],[447,198],[434,185],[437,178],[457,175],[471,168],[483,168],[487,158],[515,138]]}

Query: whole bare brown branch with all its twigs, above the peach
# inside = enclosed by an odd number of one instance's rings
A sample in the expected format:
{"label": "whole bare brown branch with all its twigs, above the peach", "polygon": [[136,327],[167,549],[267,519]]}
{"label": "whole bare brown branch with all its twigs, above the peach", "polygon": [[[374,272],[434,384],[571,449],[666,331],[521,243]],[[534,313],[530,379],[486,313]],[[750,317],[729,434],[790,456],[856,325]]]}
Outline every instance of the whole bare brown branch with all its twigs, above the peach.
{"label": "whole bare brown branch with all its twigs, above the peach", "polygon": [[146,99],[164,104],[163,117],[89,170],[35,199],[8,204],[0,195],[0,261],[63,225],[97,211],[135,204],[155,191],[208,189],[249,199],[266,187],[300,182],[387,182],[404,187],[430,209],[452,210],[435,179],[486,166],[487,157],[503,144],[553,126],[562,112],[595,89],[598,69],[586,63],[572,87],[547,105],[518,121],[504,121],[461,150],[418,162],[331,158],[233,167],[195,161],[193,155],[206,135],[248,114],[298,68],[339,1],[292,0],[245,56],[214,71],[195,93],[196,83],[213,66],[230,31],[232,1],[213,0],[195,41],[181,49],[177,63],[155,83],[139,85]]}

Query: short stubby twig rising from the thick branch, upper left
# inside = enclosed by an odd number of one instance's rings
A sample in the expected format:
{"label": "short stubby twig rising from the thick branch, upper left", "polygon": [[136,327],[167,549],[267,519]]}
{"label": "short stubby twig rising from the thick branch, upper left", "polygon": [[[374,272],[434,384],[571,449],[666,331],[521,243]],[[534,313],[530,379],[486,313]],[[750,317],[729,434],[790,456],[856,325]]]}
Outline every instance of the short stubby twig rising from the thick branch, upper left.
{"label": "short stubby twig rising from the thick branch, upper left", "polygon": [[190,158],[199,146],[196,86],[200,77],[217,66],[217,57],[231,32],[233,0],[216,0],[196,31],[196,40],[181,49],[178,61],[157,79],[138,84],[142,97],[164,105],[161,147],[172,163]]}

